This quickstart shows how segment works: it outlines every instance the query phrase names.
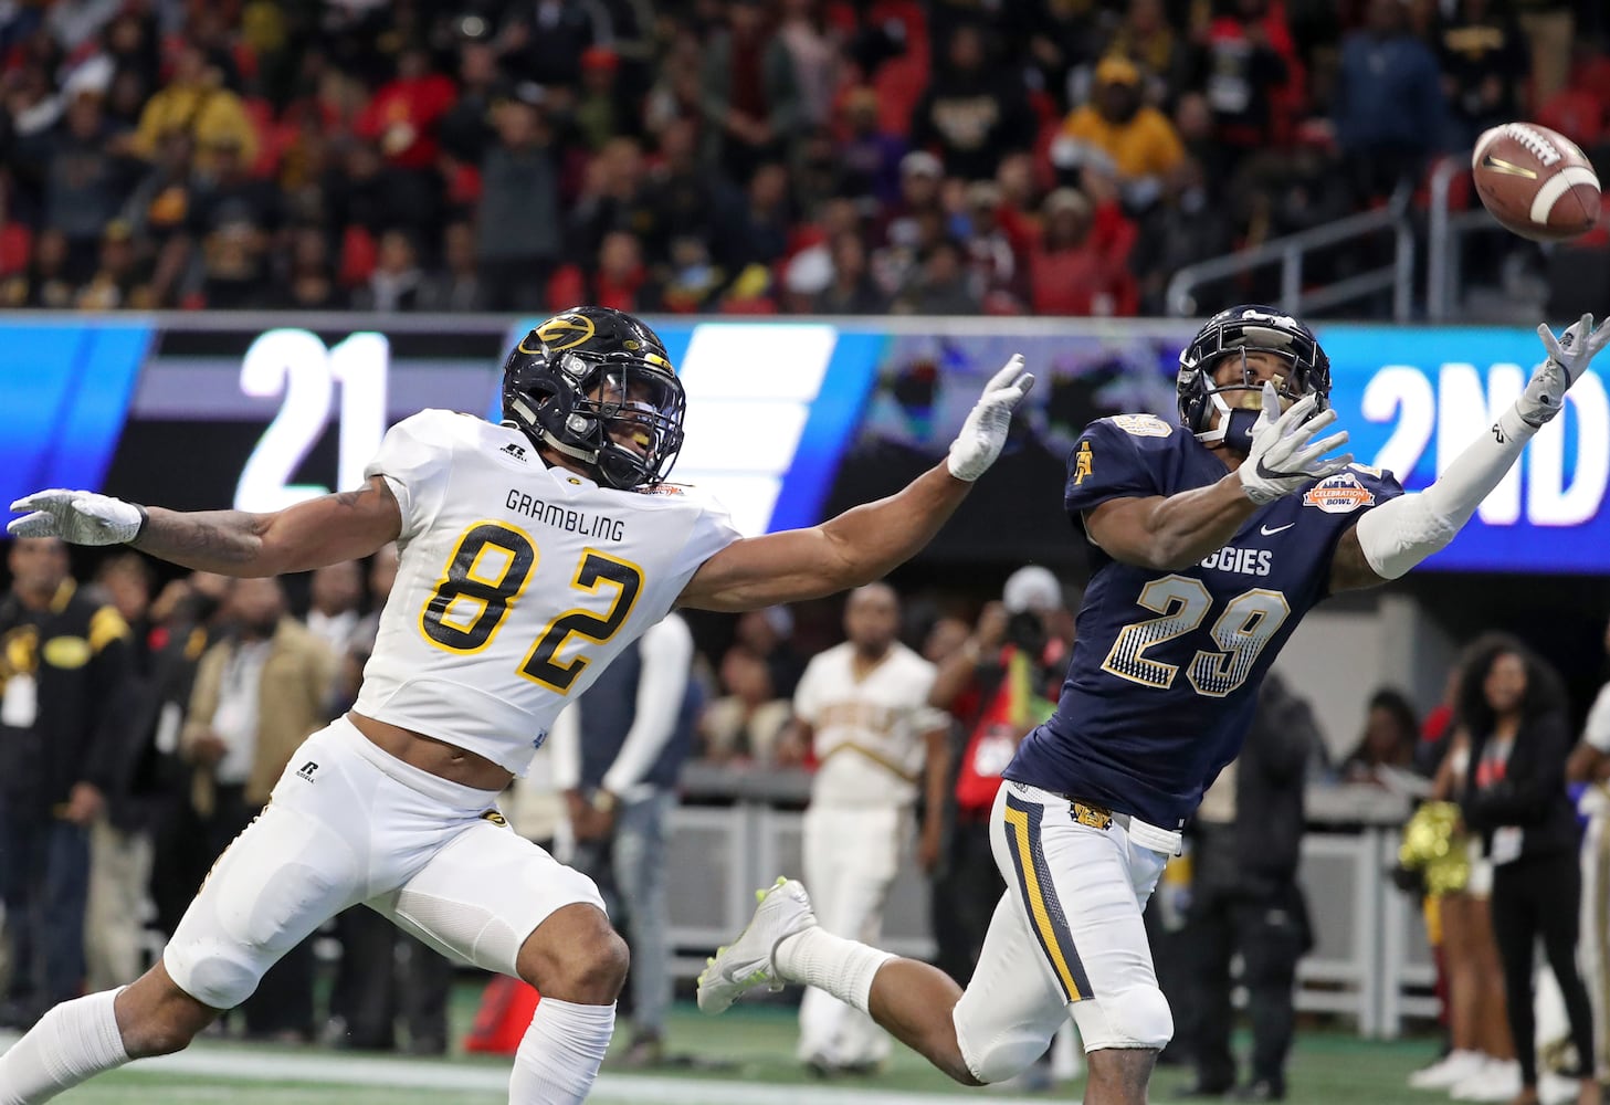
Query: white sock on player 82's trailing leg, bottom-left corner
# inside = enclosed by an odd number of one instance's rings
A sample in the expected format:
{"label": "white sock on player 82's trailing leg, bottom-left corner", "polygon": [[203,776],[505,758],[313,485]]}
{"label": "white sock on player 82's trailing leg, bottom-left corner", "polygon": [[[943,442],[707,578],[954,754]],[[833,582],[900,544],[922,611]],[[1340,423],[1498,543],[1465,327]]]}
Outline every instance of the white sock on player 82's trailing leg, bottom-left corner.
{"label": "white sock on player 82's trailing leg, bottom-left corner", "polygon": [[63,1002],[0,1055],[0,1105],[39,1105],[101,1071],[122,1066],[111,1004],[124,987]]}

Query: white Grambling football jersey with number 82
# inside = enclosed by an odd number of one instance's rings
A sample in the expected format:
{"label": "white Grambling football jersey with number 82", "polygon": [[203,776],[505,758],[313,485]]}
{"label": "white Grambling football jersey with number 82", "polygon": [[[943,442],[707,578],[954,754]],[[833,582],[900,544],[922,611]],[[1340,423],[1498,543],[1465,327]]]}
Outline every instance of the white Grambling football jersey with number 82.
{"label": "white Grambling football jersey with number 82", "polygon": [[523,775],[554,717],[739,538],[679,488],[547,467],[520,430],[422,411],[365,475],[402,511],[398,578],[354,710]]}

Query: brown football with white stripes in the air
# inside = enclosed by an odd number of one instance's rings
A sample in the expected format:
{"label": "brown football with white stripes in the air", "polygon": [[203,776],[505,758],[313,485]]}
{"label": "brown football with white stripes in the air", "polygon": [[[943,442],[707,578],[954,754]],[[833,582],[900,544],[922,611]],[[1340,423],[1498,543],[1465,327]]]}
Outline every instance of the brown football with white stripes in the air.
{"label": "brown football with white stripes in the air", "polygon": [[1599,177],[1576,143],[1534,122],[1505,122],[1470,156],[1481,205],[1533,242],[1563,242],[1599,221]]}

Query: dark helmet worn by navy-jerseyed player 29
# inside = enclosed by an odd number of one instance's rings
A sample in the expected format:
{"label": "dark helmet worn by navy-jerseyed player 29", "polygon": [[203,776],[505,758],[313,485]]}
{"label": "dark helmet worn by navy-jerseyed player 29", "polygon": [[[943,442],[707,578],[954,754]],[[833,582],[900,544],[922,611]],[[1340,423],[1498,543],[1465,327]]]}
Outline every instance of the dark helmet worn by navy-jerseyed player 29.
{"label": "dark helmet worn by navy-jerseyed player 29", "polygon": [[[1246,367],[1249,351],[1274,353],[1291,362],[1291,372],[1277,385],[1280,398],[1290,401],[1319,395],[1315,414],[1330,404],[1330,358],[1319,348],[1314,332],[1280,308],[1243,303],[1208,319],[1191,343],[1180,350],[1180,374],[1175,379],[1180,425],[1199,441],[1224,441],[1240,453],[1251,449],[1259,411],[1232,408],[1224,401],[1225,391],[1259,387]],[[1214,369],[1227,356],[1241,358],[1241,380],[1219,387]],[[1212,424],[1214,411],[1220,414],[1217,427]]]}

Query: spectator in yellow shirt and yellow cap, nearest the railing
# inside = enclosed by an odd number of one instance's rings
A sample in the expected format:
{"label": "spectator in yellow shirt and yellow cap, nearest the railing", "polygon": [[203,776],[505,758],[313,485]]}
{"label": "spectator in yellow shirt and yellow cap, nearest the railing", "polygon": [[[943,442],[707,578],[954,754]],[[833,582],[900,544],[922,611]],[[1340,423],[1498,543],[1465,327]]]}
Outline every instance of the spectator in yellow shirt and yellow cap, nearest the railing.
{"label": "spectator in yellow shirt and yellow cap, nearest the railing", "polygon": [[1116,174],[1130,209],[1150,206],[1183,158],[1185,147],[1169,118],[1141,103],[1140,69],[1119,56],[1096,66],[1090,101],[1067,114],[1051,143],[1051,163],[1059,171],[1090,166]]}

